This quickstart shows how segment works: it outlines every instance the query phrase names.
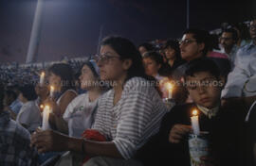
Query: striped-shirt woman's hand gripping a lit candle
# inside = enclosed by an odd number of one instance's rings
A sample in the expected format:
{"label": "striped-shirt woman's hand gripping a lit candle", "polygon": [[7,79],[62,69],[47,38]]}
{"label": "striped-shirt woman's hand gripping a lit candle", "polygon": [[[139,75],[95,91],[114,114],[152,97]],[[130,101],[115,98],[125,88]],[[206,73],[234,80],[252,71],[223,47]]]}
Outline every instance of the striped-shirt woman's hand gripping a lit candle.
{"label": "striped-shirt woman's hand gripping a lit candle", "polygon": [[42,131],[37,129],[31,135],[30,146],[35,146],[39,153],[49,151],[65,151],[68,145],[68,137],[53,130]]}

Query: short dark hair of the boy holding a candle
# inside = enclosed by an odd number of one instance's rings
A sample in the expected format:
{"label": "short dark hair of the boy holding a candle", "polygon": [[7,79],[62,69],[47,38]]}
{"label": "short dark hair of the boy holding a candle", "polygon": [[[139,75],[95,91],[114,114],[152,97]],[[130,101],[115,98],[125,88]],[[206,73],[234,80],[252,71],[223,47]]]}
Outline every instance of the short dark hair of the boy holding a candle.
{"label": "short dark hair of the boy holding a candle", "polygon": [[215,78],[220,78],[220,70],[216,63],[210,58],[195,58],[187,64],[185,79],[199,72],[209,72]]}

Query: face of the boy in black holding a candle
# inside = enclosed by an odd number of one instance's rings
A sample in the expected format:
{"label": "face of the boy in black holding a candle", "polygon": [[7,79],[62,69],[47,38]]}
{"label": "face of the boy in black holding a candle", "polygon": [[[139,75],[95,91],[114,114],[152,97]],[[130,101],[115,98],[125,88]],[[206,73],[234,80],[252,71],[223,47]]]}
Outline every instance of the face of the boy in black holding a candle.
{"label": "face of the boy in black holding a candle", "polygon": [[221,82],[209,72],[198,72],[186,77],[187,89],[192,101],[205,108],[218,105],[221,95]]}

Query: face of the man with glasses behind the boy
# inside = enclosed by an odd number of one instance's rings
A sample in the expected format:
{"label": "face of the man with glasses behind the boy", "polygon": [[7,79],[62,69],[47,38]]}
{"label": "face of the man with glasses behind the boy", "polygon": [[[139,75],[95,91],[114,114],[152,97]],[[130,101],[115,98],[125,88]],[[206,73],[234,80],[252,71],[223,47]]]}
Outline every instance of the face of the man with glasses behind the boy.
{"label": "face of the man with glasses behind the boy", "polygon": [[196,42],[193,35],[188,33],[183,35],[179,47],[181,57],[187,61],[190,61],[194,58],[199,58],[202,56],[202,51],[205,44]]}

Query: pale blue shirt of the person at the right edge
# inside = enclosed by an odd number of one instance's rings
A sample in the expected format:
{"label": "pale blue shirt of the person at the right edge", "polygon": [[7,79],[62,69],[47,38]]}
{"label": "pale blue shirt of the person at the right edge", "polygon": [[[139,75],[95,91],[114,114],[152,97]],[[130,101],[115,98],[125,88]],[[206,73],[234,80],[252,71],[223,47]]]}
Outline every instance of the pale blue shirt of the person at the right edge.
{"label": "pale blue shirt of the person at the right edge", "polygon": [[[228,82],[222,91],[223,98],[247,96],[243,89],[247,80],[256,75],[256,45],[250,42],[238,50],[235,67],[228,76]],[[255,94],[251,94],[255,95]]]}

